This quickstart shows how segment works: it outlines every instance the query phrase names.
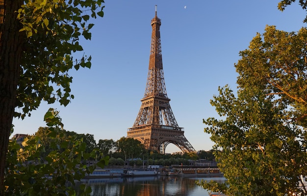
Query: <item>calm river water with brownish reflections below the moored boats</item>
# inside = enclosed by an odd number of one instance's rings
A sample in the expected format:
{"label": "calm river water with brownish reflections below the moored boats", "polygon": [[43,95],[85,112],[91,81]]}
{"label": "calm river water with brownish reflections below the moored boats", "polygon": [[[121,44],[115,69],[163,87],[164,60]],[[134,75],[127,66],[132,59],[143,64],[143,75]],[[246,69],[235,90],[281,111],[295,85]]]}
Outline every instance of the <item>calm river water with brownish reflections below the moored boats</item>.
{"label": "calm river water with brownish reflections below the moored boats", "polygon": [[92,196],[208,196],[197,180],[225,181],[224,177],[146,176],[87,179]]}

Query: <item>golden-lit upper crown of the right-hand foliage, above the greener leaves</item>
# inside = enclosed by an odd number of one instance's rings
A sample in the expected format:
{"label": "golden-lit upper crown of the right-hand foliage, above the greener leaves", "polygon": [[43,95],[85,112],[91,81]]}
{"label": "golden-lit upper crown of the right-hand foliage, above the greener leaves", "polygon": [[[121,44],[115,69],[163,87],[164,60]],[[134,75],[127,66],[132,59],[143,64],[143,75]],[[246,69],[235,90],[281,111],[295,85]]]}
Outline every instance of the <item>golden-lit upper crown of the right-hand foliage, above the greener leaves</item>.
{"label": "golden-lit upper crown of the right-hand foliage, above the greener leaves", "polygon": [[235,65],[239,87],[248,85],[276,95],[280,104],[291,106],[288,119],[307,126],[307,29],[298,33],[265,28],[263,40],[258,33]]}

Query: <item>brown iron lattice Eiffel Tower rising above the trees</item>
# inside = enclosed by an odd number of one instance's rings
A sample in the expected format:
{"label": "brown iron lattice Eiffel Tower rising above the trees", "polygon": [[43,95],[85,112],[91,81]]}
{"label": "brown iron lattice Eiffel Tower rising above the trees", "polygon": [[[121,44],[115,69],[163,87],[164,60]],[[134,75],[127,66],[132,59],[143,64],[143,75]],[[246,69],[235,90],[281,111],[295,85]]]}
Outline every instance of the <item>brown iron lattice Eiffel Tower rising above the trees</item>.
{"label": "brown iron lattice Eiffel Tower rising above the trees", "polygon": [[128,128],[127,138],[141,141],[146,149],[165,153],[166,146],[175,144],[182,152],[196,152],[184,137],[184,129],[179,127],[170,106],[164,83],[162,66],[160,26],[161,20],[155,16],[151,21],[153,28],[149,70],[142,105],[132,128]]}

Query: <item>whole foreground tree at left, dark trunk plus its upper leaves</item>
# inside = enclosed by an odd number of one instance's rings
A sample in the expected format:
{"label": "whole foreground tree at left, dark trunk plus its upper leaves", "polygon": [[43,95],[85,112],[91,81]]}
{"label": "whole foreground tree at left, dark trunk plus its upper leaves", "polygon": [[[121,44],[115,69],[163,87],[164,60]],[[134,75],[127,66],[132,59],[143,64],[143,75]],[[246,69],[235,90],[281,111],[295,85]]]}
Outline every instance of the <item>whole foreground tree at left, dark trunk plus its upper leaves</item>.
{"label": "whole foreground tree at left, dark trunk plus its upper leaves", "polygon": [[91,38],[87,22],[103,16],[102,2],[0,0],[0,195],[13,116],[30,115],[42,100],[66,106],[74,98],[68,71],[90,67],[91,57],[72,54],[83,50],[81,35]]}

